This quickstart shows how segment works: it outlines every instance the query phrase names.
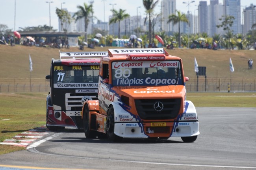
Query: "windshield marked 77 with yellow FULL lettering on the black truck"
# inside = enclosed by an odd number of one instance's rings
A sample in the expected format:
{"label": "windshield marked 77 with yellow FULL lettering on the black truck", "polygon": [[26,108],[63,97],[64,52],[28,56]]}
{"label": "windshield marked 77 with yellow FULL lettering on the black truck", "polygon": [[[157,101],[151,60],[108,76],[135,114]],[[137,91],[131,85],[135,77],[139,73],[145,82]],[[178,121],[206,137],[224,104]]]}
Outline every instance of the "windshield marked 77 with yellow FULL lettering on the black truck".
{"label": "windshield marked 77 with yellow FULL lettering on the black truck", "polygon": [[98,84],[98,74],[99,66],[54,66],[54,87],[86,88],[88,83]]}

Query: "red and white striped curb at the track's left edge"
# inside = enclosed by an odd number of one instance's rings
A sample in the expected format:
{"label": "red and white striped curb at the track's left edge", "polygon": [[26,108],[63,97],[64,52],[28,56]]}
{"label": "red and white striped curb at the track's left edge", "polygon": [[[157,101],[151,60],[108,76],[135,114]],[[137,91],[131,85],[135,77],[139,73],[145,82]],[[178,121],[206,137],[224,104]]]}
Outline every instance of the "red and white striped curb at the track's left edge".
{"label": "red and white striped curb at the track's left edge", "polygon": [[41,126],[19,133],[18,135],[12,137],[12,139],[6,139],[3,142],[0,142],[0,144],[27,147],[35,140],[40,139],[41,137],[47,135],[48,132],[50,131],[46,128],[46,126]]}

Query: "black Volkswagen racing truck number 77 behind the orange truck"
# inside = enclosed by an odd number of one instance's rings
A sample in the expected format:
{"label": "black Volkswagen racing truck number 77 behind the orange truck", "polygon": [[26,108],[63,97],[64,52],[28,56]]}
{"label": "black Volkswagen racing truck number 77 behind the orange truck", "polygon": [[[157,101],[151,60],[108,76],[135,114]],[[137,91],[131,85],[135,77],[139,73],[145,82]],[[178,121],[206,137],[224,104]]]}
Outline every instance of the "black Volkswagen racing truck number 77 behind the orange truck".
{"label": "black Volkswagen racing truck number 77 behind the orange truck", "polygon": [[98,99],[100,57],[108,52],[61,52],[52,58],[50,92],[46,97],[46,127],[83,128],[82,107],[87,100]]}

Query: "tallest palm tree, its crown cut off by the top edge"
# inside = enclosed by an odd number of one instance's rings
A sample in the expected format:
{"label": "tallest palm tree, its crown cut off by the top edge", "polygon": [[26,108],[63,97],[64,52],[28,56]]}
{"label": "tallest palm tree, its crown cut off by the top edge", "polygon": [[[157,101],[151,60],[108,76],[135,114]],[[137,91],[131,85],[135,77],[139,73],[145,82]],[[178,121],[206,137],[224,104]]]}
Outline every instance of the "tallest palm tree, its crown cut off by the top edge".
{"label": "tallest palm tree, its crown cut off by the top edge", "polygon": [[154,2],[154,0],[143,0],[143,6],[146,9],[146,13],[147,16],[145,18],[145,22],[147,21],[147,17],[148,17],[148,37],[149,37],[149,43],[152,43],[152,21],[151,21],[151,15],[154,12],[154,8],[156,7],[156,4],[159,2],[159,0],[157,0],[156,2]]}

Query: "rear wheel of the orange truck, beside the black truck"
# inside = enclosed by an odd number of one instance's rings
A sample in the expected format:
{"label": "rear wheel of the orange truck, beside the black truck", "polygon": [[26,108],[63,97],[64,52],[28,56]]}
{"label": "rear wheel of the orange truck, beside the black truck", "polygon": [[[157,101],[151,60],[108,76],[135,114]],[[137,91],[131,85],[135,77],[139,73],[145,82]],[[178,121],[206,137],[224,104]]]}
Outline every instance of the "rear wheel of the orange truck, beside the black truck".
{"label": "rear wheel of the orange truck, beside the black truck", "polygon": [[89,107],[86,104],[83,110],[83,129],[86,138],[96,138],[97,133],[90,130]]}

